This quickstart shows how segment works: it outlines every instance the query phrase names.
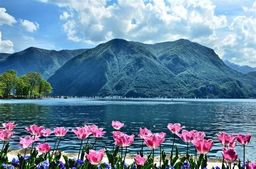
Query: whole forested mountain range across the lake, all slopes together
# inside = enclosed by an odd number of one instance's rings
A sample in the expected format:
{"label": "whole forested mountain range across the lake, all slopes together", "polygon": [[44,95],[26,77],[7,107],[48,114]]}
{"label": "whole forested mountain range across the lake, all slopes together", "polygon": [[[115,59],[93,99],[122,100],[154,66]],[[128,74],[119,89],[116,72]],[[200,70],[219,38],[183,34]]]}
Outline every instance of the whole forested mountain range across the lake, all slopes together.
{"label": "whole forested mountain range across the lake, all slopes together", "polygon": [[10,68],[50,77],[53,96],[256,97],[254,72],[234,71],[211,48],[185,39],[153,45],[113,39],[73,51],[31,47],[0,55],[0,73]]}

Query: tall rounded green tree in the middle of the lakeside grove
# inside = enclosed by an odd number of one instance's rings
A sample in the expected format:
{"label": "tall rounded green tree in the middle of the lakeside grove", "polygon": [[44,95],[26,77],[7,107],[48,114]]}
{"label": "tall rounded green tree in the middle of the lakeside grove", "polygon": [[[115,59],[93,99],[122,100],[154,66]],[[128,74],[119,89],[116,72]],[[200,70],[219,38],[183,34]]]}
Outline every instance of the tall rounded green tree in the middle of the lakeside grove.
{"label": "tall rounded green tree in the middle of the lakeside grove", "polygon": [[42,77],[37,72],[30,72],[22,76],[22,79],[29,85],[29,97],[38,96],[38,88],[42,81]]}

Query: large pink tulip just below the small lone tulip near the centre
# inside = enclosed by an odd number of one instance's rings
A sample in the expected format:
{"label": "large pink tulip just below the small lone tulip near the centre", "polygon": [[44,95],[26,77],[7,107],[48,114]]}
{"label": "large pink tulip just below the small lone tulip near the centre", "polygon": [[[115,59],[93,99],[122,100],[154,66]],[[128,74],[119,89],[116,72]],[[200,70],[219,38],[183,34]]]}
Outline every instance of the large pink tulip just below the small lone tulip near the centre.
{"label": "large pink tulip just below the small lone tulip near the centre", "polygon": [[119,147],[127,147],[133,143],[134,135],[128,136],[123,132],[113,131],[114,144]]}

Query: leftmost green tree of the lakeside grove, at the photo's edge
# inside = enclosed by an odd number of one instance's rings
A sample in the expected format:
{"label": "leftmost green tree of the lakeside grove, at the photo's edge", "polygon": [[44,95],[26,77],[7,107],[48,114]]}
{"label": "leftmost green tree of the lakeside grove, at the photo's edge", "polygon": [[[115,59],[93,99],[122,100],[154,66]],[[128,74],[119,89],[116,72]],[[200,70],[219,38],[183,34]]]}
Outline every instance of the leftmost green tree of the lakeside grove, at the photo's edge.
{"label": "leftmost green tree of the lakeside grove, at the photo's edge", "polygon": [[17,72],[11,69],[1,75],[0,81],[4,83],[4,87],[2,89],[4,97],[11,95],[11,89],[14,89],[17,78]]}

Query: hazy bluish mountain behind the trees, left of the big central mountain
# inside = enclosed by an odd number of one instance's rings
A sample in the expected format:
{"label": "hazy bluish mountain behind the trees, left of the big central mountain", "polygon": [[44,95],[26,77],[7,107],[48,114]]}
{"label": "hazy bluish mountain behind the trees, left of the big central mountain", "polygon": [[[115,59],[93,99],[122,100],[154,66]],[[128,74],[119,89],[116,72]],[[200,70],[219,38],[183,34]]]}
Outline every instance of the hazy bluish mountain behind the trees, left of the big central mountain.
{"label": "hazy bluish mountain behind the trees, left of the big central mountain", "polygon": [[[66,61],[85,51],[85,49],[55,51],[29,47],[14,54],[1,53],[0,74],[8,69],[14,69],[18,75],[38,72],[44,79],[48,79]],[[1,59],[1,55],[4,55],[4,59]]]}

